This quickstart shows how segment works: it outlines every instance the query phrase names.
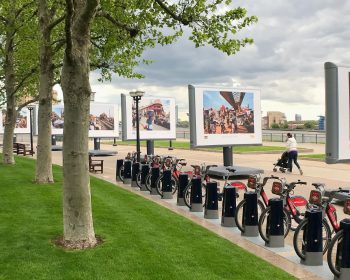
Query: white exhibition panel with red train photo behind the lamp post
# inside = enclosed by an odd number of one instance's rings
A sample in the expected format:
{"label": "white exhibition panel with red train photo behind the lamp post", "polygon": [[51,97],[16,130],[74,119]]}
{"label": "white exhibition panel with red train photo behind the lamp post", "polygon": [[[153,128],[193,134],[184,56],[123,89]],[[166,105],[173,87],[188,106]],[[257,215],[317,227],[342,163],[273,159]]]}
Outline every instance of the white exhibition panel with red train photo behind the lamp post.
{"label": "white exhibition panel with red train photo behind the lamp post", "polygon": [[[136,107],[131,96],[121,95],[123,140],[136,139]],[[175,139],[175,99],[142,97],[139,101],[140,139]]]}

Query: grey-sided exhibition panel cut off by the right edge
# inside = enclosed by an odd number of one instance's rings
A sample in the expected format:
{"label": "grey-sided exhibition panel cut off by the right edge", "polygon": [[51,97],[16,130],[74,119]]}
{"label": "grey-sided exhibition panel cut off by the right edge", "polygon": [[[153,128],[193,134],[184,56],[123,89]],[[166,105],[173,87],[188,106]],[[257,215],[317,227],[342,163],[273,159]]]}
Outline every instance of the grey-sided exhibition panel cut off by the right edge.
{"label": "grey-sided exhibition panel cut off by the right edge", "polygon": [[350,67],[326,62],[326,162],[350,161]]}

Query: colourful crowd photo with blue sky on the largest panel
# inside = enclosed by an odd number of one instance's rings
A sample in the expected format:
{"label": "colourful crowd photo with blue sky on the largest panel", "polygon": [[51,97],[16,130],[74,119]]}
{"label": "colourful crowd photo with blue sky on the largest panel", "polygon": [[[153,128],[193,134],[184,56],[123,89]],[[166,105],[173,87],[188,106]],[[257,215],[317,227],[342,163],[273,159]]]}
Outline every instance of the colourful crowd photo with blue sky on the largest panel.
{"label": "colourful crowd photo with blue sky on the largest panel", "polygon": [[254,94],[204,91],[204,134],[254,133]]}

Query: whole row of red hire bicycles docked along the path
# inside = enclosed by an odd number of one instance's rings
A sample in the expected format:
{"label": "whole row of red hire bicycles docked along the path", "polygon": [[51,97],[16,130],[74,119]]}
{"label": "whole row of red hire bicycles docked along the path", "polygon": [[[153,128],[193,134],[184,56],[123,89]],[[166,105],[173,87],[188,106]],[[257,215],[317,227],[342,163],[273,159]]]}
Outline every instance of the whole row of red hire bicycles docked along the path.
{"label": "whole row of red hire bicycles docked along the path", "polygon": [[[129,154],[127,159],[132,162],[136,161],[136,154]],[[163,174],[162,171],[171,170],[171,184],[172,192],[176,193],[179,186],[179,175],[183,172],[183,167],[187,165],[185,159],[177,159],[175,157],[167,156],[148,156],[145,155],[142,159],[143,164],[149,165],[149,170],[158,167],[161,171],[159,177],[156,180],[155,186],[158,194],[163,195]],[[216,165],[191,165],[191,170],[184,171],[188,174],[189,178],[200,177],[202,182],[202,196],[205,197],[206,184],[212,180],[208,175],[208,171],[211,167]],[[342,246],[343,231],[340,229],[338,223],[338,217],[336,208],[333,205],[333,200],[337,192],[342,191],[341,188],[326,191],[325,185],[322,183],[313,183],[315,189],[311,190],[309,199],[301,195],[295,195],[294,191],[297,186],[306,185],[304,181],[295,181],[288,183],[285,178],[280,178],[277,176],[266,176],[261,175],[250,176],[247,180],[247,184],[241,181],[229,181],[229,175],[235,170],[232,168],[227,169],[227,176],[224,176],[224,187],[234,186],[239,190],[247,191],[248,189],[257,193],[258,196],[258,215],[259,215],[259,233],[262,239],[268,242],[268,227],[269,227],[269,197],[265,188],[270,182],[271,193],[276,197],[283,200],[283,221],[284,221],[284,236],[286,237],[288,233],[292,230],[294,232],[293,246],[295,252],[301,259],[305,259],[305,229],[307,229],[308,219],[305,218],[305,213],[307,210],[322,210],[324,213],[324,218],[322,220],[322,240],[323,240],[323,254],[327,252],[327,261],[330,270],[334,275],[340,275],[339,266],[339,249]],[[119,169],[119,178],[123,181],[124,169],[123,166]],[[152,172],[147,174],[145,179],[146,188],[151,191],[152,182]],[[137,174],[136,183],[141,188],[141,172]],[[191,180],[189,180],[188,185],[184,189],[184,201],[187,206],[190,207],[190,197],[191,197]],[[218,189],[218,198],[222,199],[222,193]],[[244,231],[244,207],[246,201],[241,200],[235,212],[235,222],[236,226]],[[350,214],[350,200],[347,200],[344,204],[344,213]],[[338,255],[337,255],[338,251]]]}

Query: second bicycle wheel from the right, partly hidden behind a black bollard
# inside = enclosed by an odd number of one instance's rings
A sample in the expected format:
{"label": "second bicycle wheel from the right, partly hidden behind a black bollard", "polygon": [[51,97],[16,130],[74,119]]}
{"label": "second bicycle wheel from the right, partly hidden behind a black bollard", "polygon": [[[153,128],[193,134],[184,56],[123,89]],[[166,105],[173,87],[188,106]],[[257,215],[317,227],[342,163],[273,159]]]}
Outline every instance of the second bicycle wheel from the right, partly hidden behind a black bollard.
{"label": "second bicycle wheel from the right, partly hidden behind a black bollard", "polygon": [[[296,254],[301,258],[302,260],[305,259],[305,246],[306,243],[304,241],[305,237],[305,229],[308,224],[308,219],[304,219],[301,221],[297,229],[295,230],[294,237],[293,237],[293,247],[296,252]],[[326,253],[329,242],[331,240],[331,229],[325,219],[322,220],[322,252],[323,254]]]}

